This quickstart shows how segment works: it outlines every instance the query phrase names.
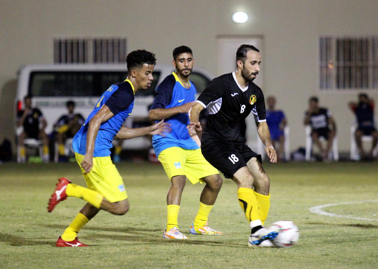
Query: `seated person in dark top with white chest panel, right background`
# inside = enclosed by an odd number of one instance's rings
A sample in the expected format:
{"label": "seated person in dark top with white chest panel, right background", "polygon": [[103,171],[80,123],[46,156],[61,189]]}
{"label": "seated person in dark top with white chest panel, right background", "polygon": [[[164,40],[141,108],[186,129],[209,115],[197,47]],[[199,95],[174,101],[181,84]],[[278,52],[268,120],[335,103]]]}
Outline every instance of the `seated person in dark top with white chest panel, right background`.
{"label": "seated person in dark top with white chest panel, right background", "polygon": [[[318,146],[324,160],[328,159],[328,153],[332,148],[333,138],[336,135],[336,124],[327,108],[318,106],[318,97],[311,97],[308,111],[305,112],[304,125],[311,126],[311,137]],[[327,140],[324,148],[319,138],[323,136]]]}

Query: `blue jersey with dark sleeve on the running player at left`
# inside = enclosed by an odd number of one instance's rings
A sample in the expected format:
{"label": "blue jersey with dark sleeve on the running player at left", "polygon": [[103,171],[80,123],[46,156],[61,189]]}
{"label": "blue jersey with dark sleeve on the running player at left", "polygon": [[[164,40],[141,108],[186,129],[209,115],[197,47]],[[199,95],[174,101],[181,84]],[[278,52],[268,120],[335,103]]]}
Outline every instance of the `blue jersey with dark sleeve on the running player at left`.
{"label": "blue jersey with dark sleeve on the running player at left", "polygon": [[105,157],[110,155],[110,148],[113,147],[112,141],[114,136],[118,133],[122,123],[133,110],[134,87],[130,80],[126,79],[123,82],[115,83],[102,94],[95,109],[89,114],[84,125],[73,138],[72,147],[75,152],[85,155],[88,123],[104,104],[107,105],[114,116],[102,122],[100,125],[95,141],[93,157]]}

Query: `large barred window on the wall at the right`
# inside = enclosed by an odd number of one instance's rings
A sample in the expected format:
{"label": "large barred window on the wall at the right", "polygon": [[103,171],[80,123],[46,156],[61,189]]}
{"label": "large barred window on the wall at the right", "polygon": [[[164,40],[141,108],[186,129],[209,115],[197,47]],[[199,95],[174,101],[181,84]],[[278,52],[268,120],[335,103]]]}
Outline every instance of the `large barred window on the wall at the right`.
{"label": "large barred window on the wall at the right", "polygon": [[378,37],[321,37],[321,90],[378,89]]}

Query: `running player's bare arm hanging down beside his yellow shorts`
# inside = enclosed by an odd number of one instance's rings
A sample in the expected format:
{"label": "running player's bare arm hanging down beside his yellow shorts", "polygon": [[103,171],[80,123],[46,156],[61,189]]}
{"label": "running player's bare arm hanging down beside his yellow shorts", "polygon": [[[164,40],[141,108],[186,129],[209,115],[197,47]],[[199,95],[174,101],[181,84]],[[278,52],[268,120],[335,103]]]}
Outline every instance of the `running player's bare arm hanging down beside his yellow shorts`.
{"label": "running player's bare arm hanging down beside his yellow shorts", "polygon": [[81,162],[81,167],[85,170],[85,172],[89,173],[93,166],[93,152],[95,150],[95,141],[98,134],[98,130],[100,129],[100,125],[102,122],[107,121],[114,114],[107,105],[102,105],[100,110],[93,116],[89,121],[88,132],[87,132],[87,147],[85,149],[85,156],[83,161]]}

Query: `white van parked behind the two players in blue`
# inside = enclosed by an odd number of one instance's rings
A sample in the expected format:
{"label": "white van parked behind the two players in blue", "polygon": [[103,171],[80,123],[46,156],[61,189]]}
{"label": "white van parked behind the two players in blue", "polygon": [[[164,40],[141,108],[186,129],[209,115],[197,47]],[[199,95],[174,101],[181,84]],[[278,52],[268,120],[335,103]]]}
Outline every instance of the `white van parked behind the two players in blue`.
{"label": "white van parked behind the two players in blue", "polygon": [[[147,121],[156,86],[174,70],[172,65],[155,66],[151,87],[135,94],[133,112],[129,117],[130,122]],[[22,109],[23,98],[31,95],[33,107],[38,107],[42,111],[47,121],[46,133],[50,134],[57,119],[67,113],[65,104],[68,100],[73,100],[76,103],[76,113],[81,113],[86,118],[101,94],[110,85],[121,82],[126,77],[126,64],[28,65],[19,73],[16,109]],[[195,67],[190,79],[197,88],[198,96],[213,76]],[[149,147],[150,141],[144,137],[124,142],[124,148],[128,149]]]}

